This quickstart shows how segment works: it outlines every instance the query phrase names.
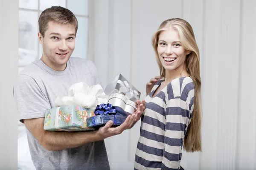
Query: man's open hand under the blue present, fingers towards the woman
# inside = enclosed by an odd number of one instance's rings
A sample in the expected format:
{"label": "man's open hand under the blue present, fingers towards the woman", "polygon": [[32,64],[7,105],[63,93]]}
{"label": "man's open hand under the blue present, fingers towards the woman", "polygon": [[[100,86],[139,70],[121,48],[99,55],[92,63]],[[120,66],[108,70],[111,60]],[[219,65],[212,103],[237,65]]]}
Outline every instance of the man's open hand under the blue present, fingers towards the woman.
{"label": "man's open hand under the blue present, fingers towards the woman", "polygon": [[135,123],[140,120],[140,117],[142,116],[146,106],[145,100],[143,100],[142,102],[140,102],[140,100],[137,100],[136,104],[137,109],[134,111],[133,114],[127,116],[125,122],[123,122],[122,125],[118,127],[111,127],[113,125],[113,122],[110,120],[104,127],[100,127],[98,131],[98,135],[100,136],[100,138],[103,140],[110,136],[119,135],[124,130],[131,129],[131,127],[133,127]]}

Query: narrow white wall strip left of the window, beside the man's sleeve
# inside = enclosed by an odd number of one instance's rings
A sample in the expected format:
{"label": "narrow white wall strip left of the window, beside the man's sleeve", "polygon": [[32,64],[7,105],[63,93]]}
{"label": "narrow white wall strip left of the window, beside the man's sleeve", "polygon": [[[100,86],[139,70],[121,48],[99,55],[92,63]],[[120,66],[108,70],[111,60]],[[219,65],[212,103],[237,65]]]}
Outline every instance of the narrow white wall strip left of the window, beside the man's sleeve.
{"label": "narrow white wall strip left of the window, beside the man's sleeve", "polygon": [[0,1],[0,169],[17,170],[17,113],[12,86],[18,71],[18,0]]}

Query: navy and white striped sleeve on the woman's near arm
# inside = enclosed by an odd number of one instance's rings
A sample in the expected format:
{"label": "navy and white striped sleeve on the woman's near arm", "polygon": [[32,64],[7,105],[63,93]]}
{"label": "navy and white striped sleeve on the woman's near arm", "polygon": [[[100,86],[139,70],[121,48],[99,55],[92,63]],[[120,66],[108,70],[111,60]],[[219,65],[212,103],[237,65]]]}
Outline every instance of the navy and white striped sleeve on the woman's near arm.
{"label": "navy and white striped sleeve on the woman's near arm", "polygon": [[174,84],[167,86],[162,170],[180,169],[184,133],[189,123],[189,105],[180,97],[180,84],[177,84],[176,87]]}

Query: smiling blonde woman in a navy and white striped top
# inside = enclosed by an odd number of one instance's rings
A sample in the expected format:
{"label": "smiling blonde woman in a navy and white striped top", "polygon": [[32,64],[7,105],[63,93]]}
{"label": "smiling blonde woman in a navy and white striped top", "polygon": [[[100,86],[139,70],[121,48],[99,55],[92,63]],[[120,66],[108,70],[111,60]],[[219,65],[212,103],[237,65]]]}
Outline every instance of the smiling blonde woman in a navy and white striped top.
{"label": "smiling blonde woman in a navy and white striped top", "polygon": [[134,169],[178,170],[183,144],[187,152],[201,151],[199,50],[180,18],[163,21],[152,45],[160,79],[145,97]]}

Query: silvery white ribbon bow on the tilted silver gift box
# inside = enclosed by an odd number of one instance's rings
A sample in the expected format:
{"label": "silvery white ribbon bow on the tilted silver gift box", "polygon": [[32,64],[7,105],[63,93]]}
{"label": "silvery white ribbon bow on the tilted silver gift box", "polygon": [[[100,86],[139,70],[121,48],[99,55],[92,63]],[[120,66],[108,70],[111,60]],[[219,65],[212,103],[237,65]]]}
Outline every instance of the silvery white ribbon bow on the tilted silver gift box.
{"label": "silvery white ribbon bow on the tilted silver gift box", "polygon": [[133,97],[138,99],[139,93],[136,90],[133,90],[127,81],[122,82],[121,80],[117,80],[117,83],[121,85],[119,93],[124,93],[128,99],[131,99]]}

